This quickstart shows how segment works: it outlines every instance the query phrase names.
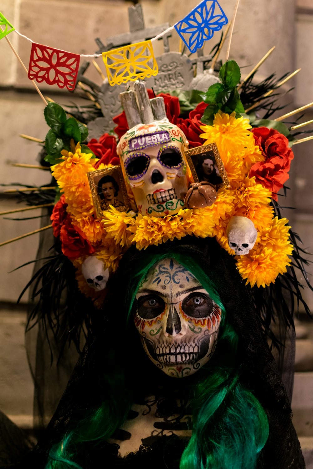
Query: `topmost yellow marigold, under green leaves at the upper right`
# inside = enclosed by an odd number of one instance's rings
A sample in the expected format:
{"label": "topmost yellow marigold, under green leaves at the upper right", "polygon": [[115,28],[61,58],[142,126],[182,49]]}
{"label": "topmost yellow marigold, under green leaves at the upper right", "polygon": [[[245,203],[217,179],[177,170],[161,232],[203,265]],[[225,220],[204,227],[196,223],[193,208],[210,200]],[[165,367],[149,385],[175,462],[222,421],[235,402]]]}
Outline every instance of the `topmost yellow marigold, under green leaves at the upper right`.
{"label": "topmost yellow marigold, under green leaves at the upper right", "polygon": [[206,138],[205,145],[215,142],[219,151],[230,151],[235,155],[244,151],[249,141],[252,142],[251,128],[249,119],[236,119],[235,112],[229,115],[220,110],[215,114],[213,125],[200,126],[204,132],[200,137]]}

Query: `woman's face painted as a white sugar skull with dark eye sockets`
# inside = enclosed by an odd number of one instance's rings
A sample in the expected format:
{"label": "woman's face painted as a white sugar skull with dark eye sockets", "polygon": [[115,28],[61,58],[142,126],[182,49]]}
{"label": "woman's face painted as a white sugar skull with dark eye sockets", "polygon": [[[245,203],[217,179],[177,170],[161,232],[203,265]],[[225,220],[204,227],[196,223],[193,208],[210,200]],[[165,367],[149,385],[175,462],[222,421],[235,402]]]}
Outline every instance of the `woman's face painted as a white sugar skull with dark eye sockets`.
{"label": "woman's face painted as a white sugar skull with dark eye sockets", "polygon": [[213,355],[221,308],[183,265],[162,259],[137,290],[134,320],[150,360],[181,378]]}

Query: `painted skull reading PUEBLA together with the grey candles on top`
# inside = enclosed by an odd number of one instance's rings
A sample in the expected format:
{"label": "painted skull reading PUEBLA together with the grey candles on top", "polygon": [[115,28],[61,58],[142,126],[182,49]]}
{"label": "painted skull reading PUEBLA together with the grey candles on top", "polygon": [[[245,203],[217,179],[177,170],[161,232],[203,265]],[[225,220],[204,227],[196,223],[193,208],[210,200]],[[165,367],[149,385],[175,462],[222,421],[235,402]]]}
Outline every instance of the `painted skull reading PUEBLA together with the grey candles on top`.
{"label": "painted skull reading PUEBLA together with the grey candles on top", "polygon": [[117,145],[130,198],[144,215],[175,215],[188,189],[183,154],[188,141],[168,121],[163,98],[149,99],[142,82],[134,89],[120,94],[130,130]]}

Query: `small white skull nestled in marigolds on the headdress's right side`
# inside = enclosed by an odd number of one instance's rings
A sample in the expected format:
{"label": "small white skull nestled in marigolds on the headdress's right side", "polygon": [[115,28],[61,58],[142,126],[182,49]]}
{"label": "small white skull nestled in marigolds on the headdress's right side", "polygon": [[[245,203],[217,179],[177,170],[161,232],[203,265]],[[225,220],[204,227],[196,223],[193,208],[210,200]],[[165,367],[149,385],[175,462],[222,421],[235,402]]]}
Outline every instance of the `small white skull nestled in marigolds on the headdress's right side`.
{"label": "small white skull nestled in marigolds on the headdress's right side", "polygon": [[244,256],[253,248],[258,232],[253,221],[246,217],[234,216],[227,225],[227,237],[230,249],[234,250],[237,256]]}

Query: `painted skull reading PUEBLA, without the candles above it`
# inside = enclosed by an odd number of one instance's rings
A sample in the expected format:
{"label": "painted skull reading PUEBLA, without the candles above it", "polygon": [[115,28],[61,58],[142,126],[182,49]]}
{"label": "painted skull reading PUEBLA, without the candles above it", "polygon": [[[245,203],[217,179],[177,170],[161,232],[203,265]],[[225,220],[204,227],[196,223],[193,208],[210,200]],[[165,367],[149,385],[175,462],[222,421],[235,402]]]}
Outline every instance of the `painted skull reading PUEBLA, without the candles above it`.
{"label": "painted skull reading PUEBLA, without the candles above it", "polygon": [[183,132],[168,121],[138,124],[122,136],[117,152],[139,212],[163,217],[183,207],[187,144]]}

